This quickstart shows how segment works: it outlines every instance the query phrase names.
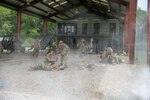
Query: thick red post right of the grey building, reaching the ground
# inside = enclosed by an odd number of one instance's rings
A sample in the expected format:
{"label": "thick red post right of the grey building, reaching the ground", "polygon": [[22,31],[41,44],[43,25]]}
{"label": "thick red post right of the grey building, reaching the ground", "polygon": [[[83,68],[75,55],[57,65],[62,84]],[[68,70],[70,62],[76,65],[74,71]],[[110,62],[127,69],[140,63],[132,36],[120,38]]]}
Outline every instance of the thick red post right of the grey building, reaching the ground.
{"label": "thick red post right of the grey building, reaching the ground", "polygon": [[134,49],[135,49],[135,19],[136,19],[136,8],[137,0],[129,1],[129,62],[134,64]]}

